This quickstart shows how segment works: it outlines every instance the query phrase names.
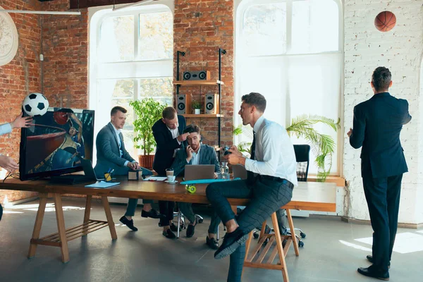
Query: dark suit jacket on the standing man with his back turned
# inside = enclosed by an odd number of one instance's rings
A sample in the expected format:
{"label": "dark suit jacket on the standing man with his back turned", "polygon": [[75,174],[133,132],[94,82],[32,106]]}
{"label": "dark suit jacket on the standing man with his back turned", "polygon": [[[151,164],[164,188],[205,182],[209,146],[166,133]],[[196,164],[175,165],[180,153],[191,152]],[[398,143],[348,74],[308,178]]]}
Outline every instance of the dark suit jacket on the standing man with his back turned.
{"label": "dark suit jacket on the standing man with his back turned", "polygon": [[408,171],[400,143],[403,125],[411,121],[408,102],[388,92],[354,107],[350,145],[362,147],[362,177],[384,178]]}

